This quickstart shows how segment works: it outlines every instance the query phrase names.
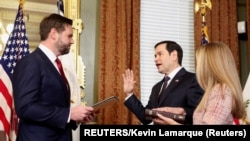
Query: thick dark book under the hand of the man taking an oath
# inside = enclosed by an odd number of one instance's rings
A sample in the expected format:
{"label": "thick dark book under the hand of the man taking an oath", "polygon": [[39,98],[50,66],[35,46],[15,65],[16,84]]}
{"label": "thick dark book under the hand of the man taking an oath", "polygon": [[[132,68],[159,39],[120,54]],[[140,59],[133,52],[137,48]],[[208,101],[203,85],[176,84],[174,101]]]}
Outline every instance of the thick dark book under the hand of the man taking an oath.
{"label": "thick dark book under the hand of the man taking an oath", "polygon": [[151,110],[151,109],[145,110],[146,119],[152,120],[152,118],[157,118],[158,113],[165,116],[165,117],[171,118],[177,122],[180,122],[180,123],[183,123],[185,121],[185,115],[183,115],[183,114],[175,114],[175,113],[170,113],[170,112],[165,112],[165,111],[157,111],[157,110]]}

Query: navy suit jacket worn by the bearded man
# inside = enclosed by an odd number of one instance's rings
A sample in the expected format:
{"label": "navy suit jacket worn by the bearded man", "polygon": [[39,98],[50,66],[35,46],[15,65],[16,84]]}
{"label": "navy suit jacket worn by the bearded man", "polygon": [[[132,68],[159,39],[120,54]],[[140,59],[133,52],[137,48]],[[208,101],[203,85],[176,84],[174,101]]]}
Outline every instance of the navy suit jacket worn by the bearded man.
{"label": "navy suit jacket worn by the bearded man", "polygon": [[17,141],[71,141],[76,123],[67,123],[70,91],[49,58],[37,48],[17,63],[13,96],[20,119]]}

